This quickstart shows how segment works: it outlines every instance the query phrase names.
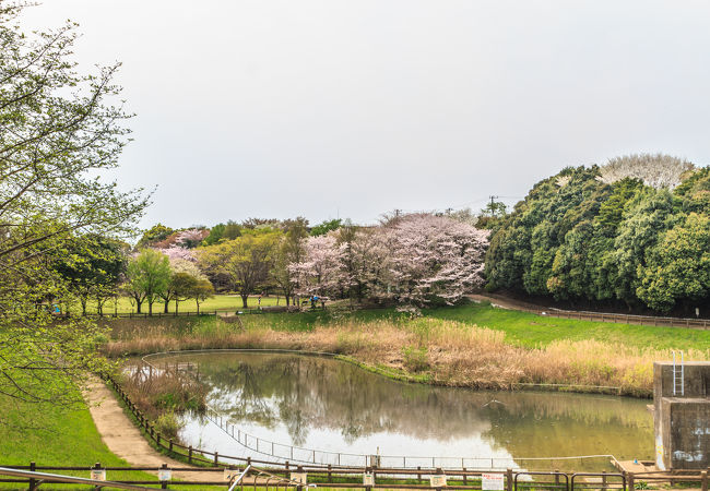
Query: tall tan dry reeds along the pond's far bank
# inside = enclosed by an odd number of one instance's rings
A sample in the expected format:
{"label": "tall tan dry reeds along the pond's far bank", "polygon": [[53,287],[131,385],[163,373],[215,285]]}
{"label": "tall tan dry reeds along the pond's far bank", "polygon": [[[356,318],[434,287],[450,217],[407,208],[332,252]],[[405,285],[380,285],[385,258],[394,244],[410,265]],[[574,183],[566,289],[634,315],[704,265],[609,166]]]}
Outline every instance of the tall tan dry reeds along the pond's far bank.
{"label": "tall tan dry reeds along the pond's far bank", "polygon": [[[618,387],[620,394],[649,396],[652,362],[667,350],[627,348],[589,340],[558,340],[524,348],[506,343],[506,334],[438,319],[335,321],[310,332],[287,332],[259,323],[246,331],[215,322],[192,333],[154,326],[138,337],[109,343],[109,356],[164,350],[271,348],[348,355],[372,367],[417,374],[427,382],[478,388],[513,388],[517,384],[567,384]],[[690,351],[688,360],[708,360]],[[577,387],[577,390],[584,390]],[[614,391],[615,392],[615,391]]]}

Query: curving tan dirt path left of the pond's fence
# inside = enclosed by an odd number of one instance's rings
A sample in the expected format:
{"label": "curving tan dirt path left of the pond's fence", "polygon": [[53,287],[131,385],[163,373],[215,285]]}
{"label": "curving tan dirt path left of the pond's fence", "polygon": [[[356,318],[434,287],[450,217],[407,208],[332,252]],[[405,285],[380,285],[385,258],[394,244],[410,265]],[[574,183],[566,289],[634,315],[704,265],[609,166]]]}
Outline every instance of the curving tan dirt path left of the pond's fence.
{"label": "curving tan dirt path left of the pond's fence", "polygon": [[[188,467],[149,445],[141,431],[126,416],[114,393],[100,380],[92,379],[84,397],[88,403],[88,410],[102,440],[114,454],[132,466],[159,467],[167,464],[168,467]],[[176,471],[173,476],[175,479],[184,481],[218,481],[222,479],[222,472]]]}

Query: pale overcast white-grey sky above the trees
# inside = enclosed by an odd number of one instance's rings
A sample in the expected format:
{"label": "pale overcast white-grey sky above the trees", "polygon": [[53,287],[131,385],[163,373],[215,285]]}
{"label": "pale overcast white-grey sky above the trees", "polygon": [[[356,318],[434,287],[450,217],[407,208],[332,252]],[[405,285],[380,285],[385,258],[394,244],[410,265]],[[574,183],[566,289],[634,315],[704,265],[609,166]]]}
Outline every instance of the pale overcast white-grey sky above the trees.
{"label": "pale overcast white-grey sky above the trees", "polygon": [[710,2],[44,0],[121,61],[144,226],[514,203],[568,165],[710,160]]}

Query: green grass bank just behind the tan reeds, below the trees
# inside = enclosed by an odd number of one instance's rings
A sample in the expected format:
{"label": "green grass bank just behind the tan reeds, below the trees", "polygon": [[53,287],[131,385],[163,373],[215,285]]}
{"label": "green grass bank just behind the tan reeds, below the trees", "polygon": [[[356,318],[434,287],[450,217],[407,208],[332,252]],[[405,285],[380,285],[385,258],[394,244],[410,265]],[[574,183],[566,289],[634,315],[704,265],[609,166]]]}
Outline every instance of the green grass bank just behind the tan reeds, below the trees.
{"label": "green grass bank just behind the tan reeds, below the trees", "polygon": [[[710,331],[558,319],[494,308],[489,303],[425,309],[423,314],[427,318],[459,321],[504,331],[509,343],[528,348],[547,346],[558,339],[596,339],[638,348],[710,349]],[[258,315],[258,319],[253,320],[247,316],[245,322],[265,323],[283,331],[309,331],[317,323],[342,322],[346,319],[358,321],[398,319],[404,315],[394,309],[364,310],[353,314],[333,314],[326,310],[300,314]]]}

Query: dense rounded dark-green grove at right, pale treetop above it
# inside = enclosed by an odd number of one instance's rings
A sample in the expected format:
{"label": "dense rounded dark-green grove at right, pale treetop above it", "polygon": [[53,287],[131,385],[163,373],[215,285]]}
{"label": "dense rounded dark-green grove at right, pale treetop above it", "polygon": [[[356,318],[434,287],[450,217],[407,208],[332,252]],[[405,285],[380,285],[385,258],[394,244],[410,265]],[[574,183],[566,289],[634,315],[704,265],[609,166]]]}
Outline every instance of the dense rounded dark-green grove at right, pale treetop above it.
{"label": "dense rounded dark-green grove at right, pale treetop above it", "polygon": [[695,313],[710,304],[710,167],[631,155],[568,167],[494,226],[487,288]]}

